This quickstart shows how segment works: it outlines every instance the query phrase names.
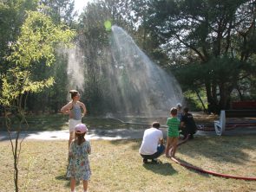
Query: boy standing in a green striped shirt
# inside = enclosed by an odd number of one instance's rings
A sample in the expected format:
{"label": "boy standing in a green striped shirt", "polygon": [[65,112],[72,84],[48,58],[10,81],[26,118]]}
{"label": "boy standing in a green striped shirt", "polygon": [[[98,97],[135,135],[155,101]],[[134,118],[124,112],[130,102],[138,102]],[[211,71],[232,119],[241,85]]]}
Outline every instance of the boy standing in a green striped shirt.
{"label": "boy standing in a green striped shirt", "polygon": [[171,151],[171,156],[175,156],[177,149],[177,143],[179,139],[179,126],[180,120],[177,118],[177,109],[175,107],[171,108],[171,118],[167,118],[167,148],[166,148],[166,157],[169,157],[169,150]]}

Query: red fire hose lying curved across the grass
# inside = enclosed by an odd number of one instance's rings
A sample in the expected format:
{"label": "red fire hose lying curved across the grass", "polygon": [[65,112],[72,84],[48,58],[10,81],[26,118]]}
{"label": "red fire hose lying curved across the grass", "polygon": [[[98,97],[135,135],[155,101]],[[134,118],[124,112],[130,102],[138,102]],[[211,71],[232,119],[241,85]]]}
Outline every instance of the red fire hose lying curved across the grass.
{"label": "red fire hose lying curved across the grass", "polygon": [[[180,146],[181,144],[185,144],[187,142],[189,138],[189,135],[187,136],[187,138],[183,141],[181,141],[181,143],[178,144],[178,146]],[[179,161],[178,159],[171,157],[171,160],[173,160],[175,163],[180,164],[183,167],[186,167],[187,169],[190,170],[197,170],[201,173],[207,173],[210,174],[212,176],[221,176],[221,177],[225,177],[225,178],[233,178],[233,179],[241,179],[241,180],[246,180],[246,181],[256,181],[256,177],[246,177],[246,176],[231,176],[231,175],[226,175],[226,174],[220,174],[220,173],[216,173],[210,170],[203,170],[201,168],[195,167],[194,165],[190,165],[187,163],[182,163],[181,161]]]}

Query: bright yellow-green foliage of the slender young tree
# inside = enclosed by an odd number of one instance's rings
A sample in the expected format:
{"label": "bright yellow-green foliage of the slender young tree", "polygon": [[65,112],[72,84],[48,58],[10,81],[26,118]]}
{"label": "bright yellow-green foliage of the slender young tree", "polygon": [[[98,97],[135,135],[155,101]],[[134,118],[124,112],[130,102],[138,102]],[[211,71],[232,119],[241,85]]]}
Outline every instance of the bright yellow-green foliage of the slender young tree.
{"label": "bright yellow-green foliage of the slender young tree", "polygon": [[33,81],[31,68],[42,64],[50,66],[55,61],[54,49],[58,42],[68,43],[74,32],[66,26],[55,26],[48,16],[40,12],[28,11],[28,17],[23,23],[21,35],[13,46],[13,54],[8,60],[15,63],[6,75],[3,75],[3,92],[1,102],[10,106],[10,101],[24,93],[36,93],[43,87],[51,86],[53,78]]}

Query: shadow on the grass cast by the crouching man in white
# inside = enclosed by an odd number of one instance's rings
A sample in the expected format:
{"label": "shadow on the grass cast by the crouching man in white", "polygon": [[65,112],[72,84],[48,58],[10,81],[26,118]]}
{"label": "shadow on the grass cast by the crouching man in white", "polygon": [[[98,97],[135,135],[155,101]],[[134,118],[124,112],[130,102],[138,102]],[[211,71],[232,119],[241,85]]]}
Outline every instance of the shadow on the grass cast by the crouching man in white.
{"label": "shadow on the grass cast by the crouching man in white", "polygon": [[178,173],[176,170],[174,170],[171,163],[162,163],[162,162],[160,162],[159,164],[147,163],[147,164],[143,164],[143,167],[146,170],[151,170],[152,172],[156,174],[160,174],[162,176],[172,176]]}

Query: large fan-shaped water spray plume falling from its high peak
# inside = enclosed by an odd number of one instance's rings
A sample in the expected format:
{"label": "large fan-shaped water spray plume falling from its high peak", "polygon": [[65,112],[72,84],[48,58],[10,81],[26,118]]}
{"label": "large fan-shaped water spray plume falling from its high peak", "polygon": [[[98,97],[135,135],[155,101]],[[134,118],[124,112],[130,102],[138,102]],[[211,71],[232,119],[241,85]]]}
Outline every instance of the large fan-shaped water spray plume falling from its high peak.
{"label": "large fan-shaped water spray plume falling from its high peak", "polygon": [[110,42],[114,62],[108,67],[109,93],[117,111],[149,117],[183,101],[174,76],[150,61],[126,31],[112,26]]}

